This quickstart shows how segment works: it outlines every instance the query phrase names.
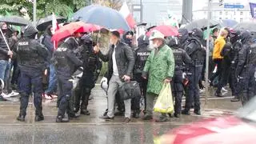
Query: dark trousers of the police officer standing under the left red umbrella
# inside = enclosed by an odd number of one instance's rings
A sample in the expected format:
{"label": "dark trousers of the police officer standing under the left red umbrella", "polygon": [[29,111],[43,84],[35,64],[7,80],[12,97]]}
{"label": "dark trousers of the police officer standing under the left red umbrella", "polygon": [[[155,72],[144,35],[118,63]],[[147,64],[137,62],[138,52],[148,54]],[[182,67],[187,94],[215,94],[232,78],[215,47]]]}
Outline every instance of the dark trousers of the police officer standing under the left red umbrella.
{"label": "dark trousers of the police officer standing under the left red umbrella", "polygon": [[73,88],[72,77],[71,76],[63,76],[57,75],[58,78],[58,116],[62,116],[64,118],[65,113],[70,115],[70,98],[71,98],[71,90]]}

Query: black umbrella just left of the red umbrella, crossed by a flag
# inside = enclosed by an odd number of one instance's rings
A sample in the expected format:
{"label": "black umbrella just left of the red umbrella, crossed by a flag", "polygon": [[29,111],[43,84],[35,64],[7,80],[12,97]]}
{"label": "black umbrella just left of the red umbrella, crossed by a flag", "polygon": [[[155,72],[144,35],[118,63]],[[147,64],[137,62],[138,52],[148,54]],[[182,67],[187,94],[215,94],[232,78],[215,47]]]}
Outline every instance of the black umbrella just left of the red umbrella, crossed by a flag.
{"label": "black umbrella just left of the red umbrella, crossed by a flag", "polygon": [[[62,23],[66,21],[66,18],[63,18],[60,16],[55,16],[55,18],[57,19],[58,23]],[[53,21],[52,15],[39,19],[37,22],[38,30],[40,31],[46,30],[47,26],[51,25],[52,21]]]}

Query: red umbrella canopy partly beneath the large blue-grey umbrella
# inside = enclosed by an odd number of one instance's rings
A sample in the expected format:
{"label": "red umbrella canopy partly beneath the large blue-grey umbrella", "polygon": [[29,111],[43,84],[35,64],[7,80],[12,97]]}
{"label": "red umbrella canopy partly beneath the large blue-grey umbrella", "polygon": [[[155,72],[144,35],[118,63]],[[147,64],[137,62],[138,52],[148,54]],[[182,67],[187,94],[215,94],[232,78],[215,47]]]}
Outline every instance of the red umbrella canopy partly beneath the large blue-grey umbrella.
{"label": "red umbrella canopy partly beneath the large blue-grey umbrella", "polygon": [[100,26],[95,26],[93,24],[86,24],[85,22],[71,22],[57,30],[53,37],[51,38],[52,41],[58,42],[63,38],[69,37],[70,35],[74,34],[75,32],[85,33],[101,30]]}

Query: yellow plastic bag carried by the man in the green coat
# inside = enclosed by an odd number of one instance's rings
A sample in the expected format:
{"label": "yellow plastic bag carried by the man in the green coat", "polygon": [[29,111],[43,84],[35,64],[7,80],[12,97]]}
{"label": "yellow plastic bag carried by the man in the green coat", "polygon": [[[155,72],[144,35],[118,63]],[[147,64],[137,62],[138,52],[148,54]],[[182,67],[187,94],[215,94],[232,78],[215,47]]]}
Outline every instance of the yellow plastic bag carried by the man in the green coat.
{"label": "yellow plastic bag carried by the man in the green coat", "polygon": [[154,111],[160,113],[172,113],[174,110],[173,96],[170,90],[170,83],[165,83],[154,104]]}

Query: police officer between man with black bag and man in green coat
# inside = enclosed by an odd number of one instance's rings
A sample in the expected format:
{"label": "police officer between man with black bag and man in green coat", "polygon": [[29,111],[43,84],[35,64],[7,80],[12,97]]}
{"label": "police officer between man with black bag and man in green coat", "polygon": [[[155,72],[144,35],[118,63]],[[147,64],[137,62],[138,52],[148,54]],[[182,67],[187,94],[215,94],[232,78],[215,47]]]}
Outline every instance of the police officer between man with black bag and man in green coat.
{"label": "police officer between man with black bag and man in green coat", "polygon": [[[146,35],[141,35],[137,39],[138,41],[138,49],[135,50],[136,57],[135,57],[135,65],[134,65],[134,79],[139,83],[139,86],[142,91],[142,97],[144,98],[144,110],[146,110],[146,85],[147,85],[147,80],[142,78],[142,71],[144,69],[145,63],[146,63],[146,58],[150,56],[150,40]],[[137,106],[137,110],[134,114],[135,118],[138,118],[139,114],[139,103]]]}

